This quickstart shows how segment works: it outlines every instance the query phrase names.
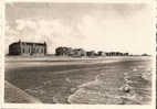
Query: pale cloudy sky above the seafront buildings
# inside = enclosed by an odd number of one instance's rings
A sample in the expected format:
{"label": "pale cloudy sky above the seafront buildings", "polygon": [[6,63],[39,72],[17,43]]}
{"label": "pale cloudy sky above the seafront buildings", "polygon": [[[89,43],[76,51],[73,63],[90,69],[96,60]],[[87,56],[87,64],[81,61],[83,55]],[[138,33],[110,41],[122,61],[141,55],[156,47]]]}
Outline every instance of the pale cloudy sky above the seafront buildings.
{"label": "pale cloudy sky above the seafront buildings", "polygon": [[49,54],[59,46],[151,54],[153,26],[146,3],[7,3],[6,53],[21,40],[45,41]]}

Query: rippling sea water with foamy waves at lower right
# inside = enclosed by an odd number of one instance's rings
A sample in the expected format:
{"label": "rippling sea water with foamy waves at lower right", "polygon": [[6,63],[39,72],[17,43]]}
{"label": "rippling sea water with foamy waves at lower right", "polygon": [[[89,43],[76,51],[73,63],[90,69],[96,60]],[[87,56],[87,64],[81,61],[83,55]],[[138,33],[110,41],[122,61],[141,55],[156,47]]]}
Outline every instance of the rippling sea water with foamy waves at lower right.
{"label": "rippling sea water with foamy waves at lower right", "polygon": [[[124,63],[119,63],[123,64]],[[151,69],[146,62],[103,69],[69,97],[71,103],[143,105],[150,102]],[[114,65],[114,64],[113,64]],[[127,66],[129,65],[129,66]],[[109,67],[109,66],[108,66]]]}

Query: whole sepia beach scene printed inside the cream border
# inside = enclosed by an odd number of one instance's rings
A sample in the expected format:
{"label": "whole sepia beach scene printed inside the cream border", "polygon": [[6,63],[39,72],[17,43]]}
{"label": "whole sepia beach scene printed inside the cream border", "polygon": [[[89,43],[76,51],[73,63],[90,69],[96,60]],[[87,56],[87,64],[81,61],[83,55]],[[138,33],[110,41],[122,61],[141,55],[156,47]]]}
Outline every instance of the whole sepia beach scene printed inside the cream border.
{"label": "whole sepia beach scene printed inside the cream border", "polygon": [[4,102],[151,105],[149,3],[8,2]]}

